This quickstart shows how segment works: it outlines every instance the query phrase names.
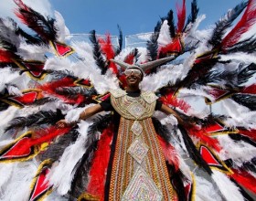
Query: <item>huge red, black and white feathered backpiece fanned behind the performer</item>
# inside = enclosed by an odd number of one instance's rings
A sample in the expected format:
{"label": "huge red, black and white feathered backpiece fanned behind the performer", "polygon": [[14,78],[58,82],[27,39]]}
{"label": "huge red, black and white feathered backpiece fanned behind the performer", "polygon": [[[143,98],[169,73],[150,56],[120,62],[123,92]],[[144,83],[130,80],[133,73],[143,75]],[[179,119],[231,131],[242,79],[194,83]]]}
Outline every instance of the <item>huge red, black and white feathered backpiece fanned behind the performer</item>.
{"label": "huge red, black and white feathered backpiece fanned behind the performer", "polygon": [[131,65],[145,67],[141,89],[187,122],[159,111],[153,118],[179,200],[255,199],[255,0],[205,30],[197,1],[187,17],[183,0],[177,23],[170,10],[137,48],[122,48],[119,26],[115,46],[94,30],[89,42],[70,39],[58,12],[14,2],[20,22],[0,18],[1,200],[103,200],[112,113],[63,129],[56,122],[77,121],[109,90],[125,89]]}

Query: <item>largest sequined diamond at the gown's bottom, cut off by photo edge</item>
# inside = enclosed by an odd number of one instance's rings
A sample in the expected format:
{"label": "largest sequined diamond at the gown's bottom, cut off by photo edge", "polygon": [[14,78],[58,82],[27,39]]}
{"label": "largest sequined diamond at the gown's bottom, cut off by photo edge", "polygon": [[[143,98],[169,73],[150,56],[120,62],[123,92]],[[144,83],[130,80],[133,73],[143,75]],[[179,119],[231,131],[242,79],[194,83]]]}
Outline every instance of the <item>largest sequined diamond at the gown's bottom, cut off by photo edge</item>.
{"label": "largest sequined diamond at the gown's bottom, cut off by photo edge", "polygon": [[160,201],[162,200],[162,193],[150,176],[139,167],[124,191],[122,201],[143,200]]}

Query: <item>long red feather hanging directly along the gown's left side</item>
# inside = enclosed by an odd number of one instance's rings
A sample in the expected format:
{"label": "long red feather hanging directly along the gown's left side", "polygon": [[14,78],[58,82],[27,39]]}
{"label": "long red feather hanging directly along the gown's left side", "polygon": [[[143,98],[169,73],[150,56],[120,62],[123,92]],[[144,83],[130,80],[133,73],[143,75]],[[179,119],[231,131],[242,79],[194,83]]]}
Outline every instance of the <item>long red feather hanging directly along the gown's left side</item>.
{"label": "long red feather hanging directly along the gown's left side", "polygon": [[97,146],[97,151],[92,159],[90,176],[91,180],[87,186],[87,192],[91,195],[101,197],[104,200],[104,185],[107,166],[109,164],[112,142],[112,128],[105,129]]}

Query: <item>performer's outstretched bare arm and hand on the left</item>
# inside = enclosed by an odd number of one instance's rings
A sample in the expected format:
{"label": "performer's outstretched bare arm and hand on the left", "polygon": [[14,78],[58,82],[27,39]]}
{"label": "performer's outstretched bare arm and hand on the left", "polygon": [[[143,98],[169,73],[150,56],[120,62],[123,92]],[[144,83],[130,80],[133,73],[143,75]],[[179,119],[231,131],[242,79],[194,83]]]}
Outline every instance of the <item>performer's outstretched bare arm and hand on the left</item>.
{"label": "performer's outstretched bare arm and hand on the left", "polygon": [[[86,120],[87,118],[90,118],[92,115],[100,111],[103,111],[100,104],[93,105],[89,108],[86,108],[84,111],[80,112],[80,117],[78,121]],[[76,122],[67,122],[66,120],[60,120],[56,124],[59,128],[64,128],[66,126],[73,125],[74,123]]]}

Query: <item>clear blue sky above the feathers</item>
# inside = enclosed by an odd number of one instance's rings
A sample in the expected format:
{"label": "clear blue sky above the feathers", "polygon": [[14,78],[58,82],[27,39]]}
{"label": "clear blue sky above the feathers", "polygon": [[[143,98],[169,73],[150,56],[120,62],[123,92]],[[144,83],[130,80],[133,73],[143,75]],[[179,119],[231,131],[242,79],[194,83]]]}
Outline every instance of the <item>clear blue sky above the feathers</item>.
{"label": "clear blue sky above the feathers", "polygon": [[[238,5],[241,0],[197,0],[199,15],[207,18],[199,28],[213,25],[220,16]],[[154,30],[160,16],[166,16],[172,9],[176,16],[176,3],[182,0],[49,0],[52,8],[58,10],[66,21],[70,33],[89,33],[92,29],[98,34],[110,32],[118,34],[121,26],[123,36]],[[187,15],[191,1],[187,0]]]}

